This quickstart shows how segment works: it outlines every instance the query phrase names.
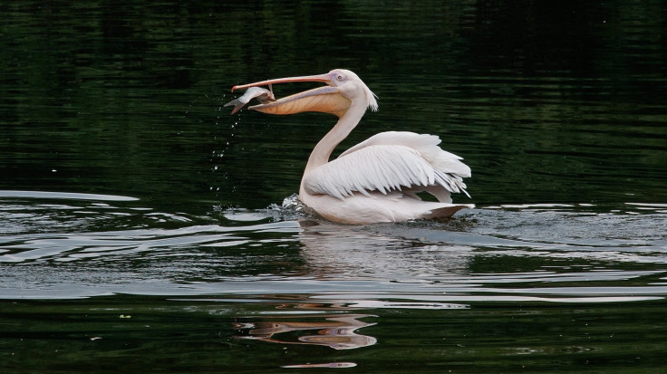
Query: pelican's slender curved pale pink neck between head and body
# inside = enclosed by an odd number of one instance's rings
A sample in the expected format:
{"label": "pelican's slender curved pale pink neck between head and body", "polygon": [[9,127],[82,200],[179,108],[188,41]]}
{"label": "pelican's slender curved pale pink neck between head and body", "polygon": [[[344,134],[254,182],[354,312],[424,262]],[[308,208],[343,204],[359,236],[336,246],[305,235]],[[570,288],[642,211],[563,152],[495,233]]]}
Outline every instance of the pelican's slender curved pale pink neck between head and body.
{"label": "pelican's slender curved pale pink neck between head and body", "polygon": [[319,168],[329,162],[333,149],[335,149],[343,139],[350,135],[350,132],[357,126],[365,112],[365,105],[355,102],[350,105],[350,109],[338,119],[338,123],[324,135],[324,138],[317,143],[313,152],[311,152],[310,158],[308,158],[308,163],[305,165],[304,177],[315,168]]}

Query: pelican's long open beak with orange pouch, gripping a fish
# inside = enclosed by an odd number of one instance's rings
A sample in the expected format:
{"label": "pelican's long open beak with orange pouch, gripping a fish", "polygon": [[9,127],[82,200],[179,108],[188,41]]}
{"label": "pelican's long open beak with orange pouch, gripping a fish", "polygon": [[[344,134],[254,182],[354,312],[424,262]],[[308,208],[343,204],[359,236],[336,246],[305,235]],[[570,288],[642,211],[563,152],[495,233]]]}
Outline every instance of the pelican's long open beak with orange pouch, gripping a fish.
{"label": "pelican's long open beak with orange pouch, gripping a fish", "polygon": [[[275,83],[290,82],[324,82],[329,84],[332,82],[332,77],[331,73],[326,73],[321,75],[306,75],[303,77],[279,78],[234,86],[232,87],[232,91],[256,86],[268,85],[271,87],[271,85]],[[350,108],[351,103],[351,101],[341,95],[338,87],[325,86],[295,93],[294,95],[267,104],[254,105],[248,109],[258,110],[268,114],[295,114],[302,111],[320,111],[341,117]]]}

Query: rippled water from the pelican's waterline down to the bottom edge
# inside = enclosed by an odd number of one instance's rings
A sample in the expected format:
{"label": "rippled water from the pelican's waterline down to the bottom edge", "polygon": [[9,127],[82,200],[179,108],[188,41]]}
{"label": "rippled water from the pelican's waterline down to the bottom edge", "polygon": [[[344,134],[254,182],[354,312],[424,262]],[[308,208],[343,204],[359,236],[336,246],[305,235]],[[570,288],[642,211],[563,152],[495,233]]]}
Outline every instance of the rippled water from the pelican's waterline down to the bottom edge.
{"label": "rippled water from the pelican's waterline down to the bottom edge", "polygon": [[192,216],[122,197],[6,195],[7,369],[664,364],[665,205],[342,226],[279,207]]}

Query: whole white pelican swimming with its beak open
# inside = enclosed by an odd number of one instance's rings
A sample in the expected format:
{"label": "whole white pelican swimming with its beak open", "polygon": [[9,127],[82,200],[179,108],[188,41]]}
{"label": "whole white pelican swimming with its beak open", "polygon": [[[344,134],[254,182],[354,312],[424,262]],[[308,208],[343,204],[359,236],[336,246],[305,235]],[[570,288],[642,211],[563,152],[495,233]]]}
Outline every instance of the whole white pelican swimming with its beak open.
{"label": "whole white pelican swimming with its beak open", "polygon": [[[286,82],[324,82],[326,86],[251,106],[268,114],[304,111],[338,117],[308,158],[299,187],[305,206],[333,222],[365,225],[420,218],[449,217],[471,204],[452,204],[450,193],[466,192],[470,168],[459,156],[440,149],[435,135],[387,131],[372,136],[329,161],[333,149],[362,119],[377,111],[377,96],[354,72],[335,69],[320,75],[280,78],[237,85],[232,91]],[[438,201],[422,200],[427,192]],[[469,197],[469,195],[468,195]]]}

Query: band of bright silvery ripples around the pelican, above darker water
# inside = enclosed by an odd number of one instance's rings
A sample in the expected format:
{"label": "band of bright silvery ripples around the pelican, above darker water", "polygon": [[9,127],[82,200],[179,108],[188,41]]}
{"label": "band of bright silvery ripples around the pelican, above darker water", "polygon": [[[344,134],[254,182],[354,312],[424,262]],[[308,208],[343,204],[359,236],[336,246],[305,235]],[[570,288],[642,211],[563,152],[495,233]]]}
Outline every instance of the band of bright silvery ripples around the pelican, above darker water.
{"label": "band of bright silvery ripples around the pelican, above darker water", "polygon": [[3,298],[293,294],[359,309],[447,309],[667,294],[661,204],[491,206],[351,226],[275,207],[192,216],[140,201],[3,201]]}

